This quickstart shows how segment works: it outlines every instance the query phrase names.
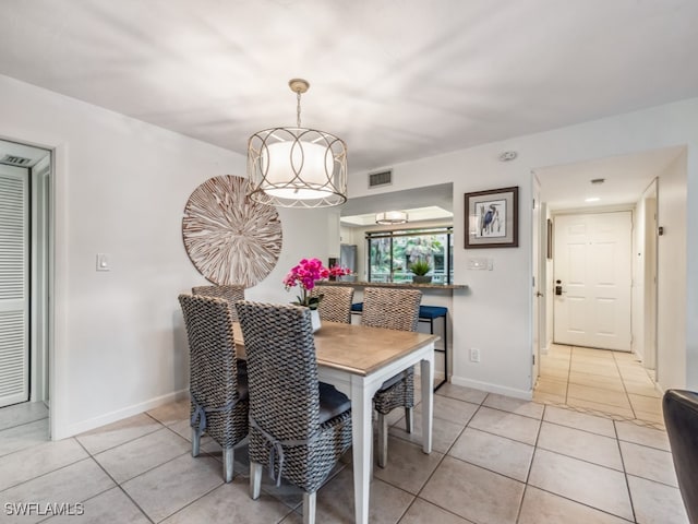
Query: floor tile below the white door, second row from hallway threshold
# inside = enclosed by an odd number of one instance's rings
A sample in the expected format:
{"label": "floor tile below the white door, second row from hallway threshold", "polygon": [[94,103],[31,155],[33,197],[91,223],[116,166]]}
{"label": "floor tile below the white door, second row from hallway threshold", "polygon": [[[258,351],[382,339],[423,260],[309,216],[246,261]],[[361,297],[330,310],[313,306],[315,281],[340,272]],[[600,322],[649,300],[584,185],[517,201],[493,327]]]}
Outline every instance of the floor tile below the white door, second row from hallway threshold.
{"label": "floor tile below the white door, second row from hallway threshold", "polygon": [[614,438],[544,421],[537,445],[539,449],[623,471],[618,442]]}

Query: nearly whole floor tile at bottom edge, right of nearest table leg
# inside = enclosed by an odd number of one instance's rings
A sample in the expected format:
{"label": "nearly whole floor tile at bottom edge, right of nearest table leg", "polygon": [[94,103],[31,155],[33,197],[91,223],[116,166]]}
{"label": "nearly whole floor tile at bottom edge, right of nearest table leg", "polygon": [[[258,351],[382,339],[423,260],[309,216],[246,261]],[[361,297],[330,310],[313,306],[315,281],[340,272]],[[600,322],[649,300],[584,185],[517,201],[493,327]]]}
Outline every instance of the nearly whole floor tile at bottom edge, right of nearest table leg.
{"label": "nearly whole floor tile at bottom edge, right of nearest table leg", "polygon": [[524,484],[449,456],[420,498],[479,524],[515,523]]}

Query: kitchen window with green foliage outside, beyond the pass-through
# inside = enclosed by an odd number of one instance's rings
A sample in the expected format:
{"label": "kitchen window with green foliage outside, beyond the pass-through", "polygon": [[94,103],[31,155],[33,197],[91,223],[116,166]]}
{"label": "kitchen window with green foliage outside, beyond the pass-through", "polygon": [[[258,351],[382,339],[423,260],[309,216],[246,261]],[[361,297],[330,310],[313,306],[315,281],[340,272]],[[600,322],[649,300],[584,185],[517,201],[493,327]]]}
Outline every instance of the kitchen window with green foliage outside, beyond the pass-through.
{"label": "kitchen window with green foliage outside, beyond the pass-through", "polygon": [[410,266],[431,265],[434,284],[453,282],[453,227],[366,233],[369,282],[412,282]]}

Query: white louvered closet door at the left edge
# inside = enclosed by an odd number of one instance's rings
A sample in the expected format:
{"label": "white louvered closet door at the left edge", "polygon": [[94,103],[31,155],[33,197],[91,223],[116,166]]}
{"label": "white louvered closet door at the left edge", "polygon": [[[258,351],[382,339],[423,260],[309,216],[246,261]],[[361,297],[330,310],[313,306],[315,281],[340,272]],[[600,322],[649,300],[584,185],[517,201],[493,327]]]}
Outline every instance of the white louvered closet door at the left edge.
{"label": "white louvered closet door at the left edge", "polygon": [[28,400],[28,175],[0,166],[0,407]]}

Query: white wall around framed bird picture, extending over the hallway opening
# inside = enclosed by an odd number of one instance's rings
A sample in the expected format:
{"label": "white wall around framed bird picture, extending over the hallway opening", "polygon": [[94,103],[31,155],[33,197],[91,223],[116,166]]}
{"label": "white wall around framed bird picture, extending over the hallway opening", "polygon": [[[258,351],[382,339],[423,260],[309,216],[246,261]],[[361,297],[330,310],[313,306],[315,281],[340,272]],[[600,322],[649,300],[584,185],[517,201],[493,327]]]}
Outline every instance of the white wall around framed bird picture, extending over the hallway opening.
{"label": "white wall around framed bird picture, extending over the hallway opening", "polygon": [[[675,258],[687,259],[687,272],[674,276],[687,296],[675,300],[687,317],[666,319],[664,329],[683,333],[687,341],[687,381],[672,377],[665,386],[698,386],[698,99],[571,126],[544,133],[485,144],[447,155],[423,158],[393,167],[393,191],[430,184],[454,183],[454,234],[456,282],[468,284],[467,294],[454,295],[455,383],[516,395],[531,396],[531,171],[539,167],[571,164],[647,150],[686,144],[687,228],[691,239]],[[515,162],[501,163],[503,151],[517,151]],[[364,175],[349,180],[350,196],[382,191],[368,190]],[[519,187],[519,248],[464,249],[464,193]],[[694,205],[690,205],[690,204]],[[678,218],[679,221],[682,218]],[[675,231],[675,235],[681,235]],[[677,245],[678,247],[678,245]],[[468,271],[468,257],[494,259],[494,271]],[[468,360],[468,349],[480,348],[481,362]],[[681,366],[681,362],[677,364]]]}

